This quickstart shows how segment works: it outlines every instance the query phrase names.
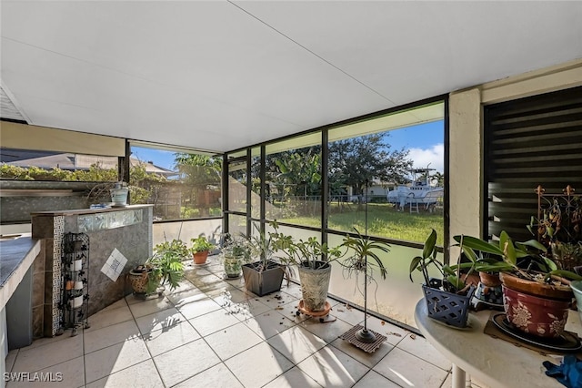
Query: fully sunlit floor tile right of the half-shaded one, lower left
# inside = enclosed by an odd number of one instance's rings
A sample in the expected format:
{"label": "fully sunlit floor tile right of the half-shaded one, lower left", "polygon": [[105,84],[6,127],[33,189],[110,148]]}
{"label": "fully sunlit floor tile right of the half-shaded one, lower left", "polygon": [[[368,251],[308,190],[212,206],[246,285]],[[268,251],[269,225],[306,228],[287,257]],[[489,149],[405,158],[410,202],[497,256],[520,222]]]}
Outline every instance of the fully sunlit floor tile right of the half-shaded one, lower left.
{"label": "fully sunlit floor tile right of the half-shaded one, lower left", "polygon": [[204,342],[196,340],[154,357],[157,370],[166,386],[181,383],[216,365],[220,359]]}

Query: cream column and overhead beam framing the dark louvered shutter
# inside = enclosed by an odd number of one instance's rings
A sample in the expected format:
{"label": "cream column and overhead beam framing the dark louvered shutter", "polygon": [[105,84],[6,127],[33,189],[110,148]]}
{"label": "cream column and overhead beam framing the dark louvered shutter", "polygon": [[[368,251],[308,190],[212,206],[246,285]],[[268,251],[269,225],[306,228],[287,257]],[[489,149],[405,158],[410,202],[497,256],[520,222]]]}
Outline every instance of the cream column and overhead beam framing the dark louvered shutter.
{"label": "cream column and overhead beam framing the dark louvered shutter", "polygon": [[581,85],[582,59],[578,59],[450,94],[451,244],[457,234],[480,237],[482,233],[483,105]]}

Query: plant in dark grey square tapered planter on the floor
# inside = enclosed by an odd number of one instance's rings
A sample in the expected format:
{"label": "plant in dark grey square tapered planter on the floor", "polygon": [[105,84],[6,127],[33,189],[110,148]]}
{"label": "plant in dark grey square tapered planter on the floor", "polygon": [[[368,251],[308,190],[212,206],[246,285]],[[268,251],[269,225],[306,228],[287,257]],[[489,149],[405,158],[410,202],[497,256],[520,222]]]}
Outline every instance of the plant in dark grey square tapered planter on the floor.
{"label": "plant in dark grey square tapered planter on the floor", "polygon": [[243,265],[243,276],[246,290],[263,296],[281,290],[287,267],[273,257],[273,236],[266,237],[256,224],[255,228],[257,233],[249,240],[249,248],[251,256],[258,260]]}

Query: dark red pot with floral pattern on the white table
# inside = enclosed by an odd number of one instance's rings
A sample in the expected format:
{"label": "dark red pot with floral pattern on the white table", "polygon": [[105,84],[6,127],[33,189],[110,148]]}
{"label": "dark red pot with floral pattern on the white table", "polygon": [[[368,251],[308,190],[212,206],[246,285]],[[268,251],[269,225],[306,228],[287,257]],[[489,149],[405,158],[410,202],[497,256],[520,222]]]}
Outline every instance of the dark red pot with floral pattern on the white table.
{"label": "dark red pot with floral pattern on the white table", "polygon": [[503,286],[507,321],[538,337],[558,338],[564,332],[570,301],[538,298]]}

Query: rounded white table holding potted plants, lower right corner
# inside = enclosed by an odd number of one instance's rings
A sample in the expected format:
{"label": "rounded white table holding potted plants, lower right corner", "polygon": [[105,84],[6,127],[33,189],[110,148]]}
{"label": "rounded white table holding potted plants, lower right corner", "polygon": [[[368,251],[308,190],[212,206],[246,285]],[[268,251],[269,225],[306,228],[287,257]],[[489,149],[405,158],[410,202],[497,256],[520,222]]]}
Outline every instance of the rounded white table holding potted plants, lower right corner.
{"label": "rounded white table holding potted plants, lower right corner", "polygon": [[[466,372],[480,383],[497,387],[564,387],[546,375],[542,362],[559,363],[561,356],[543,356],[483,332],[491,311],[469,313],[469,329],[455,329],[428,318],[426,301],[416,303],[416,326],[437,351],[453,363],[453,388],[466,386]],[[577,311],[569,311],[566,330],[582,332]]]}

